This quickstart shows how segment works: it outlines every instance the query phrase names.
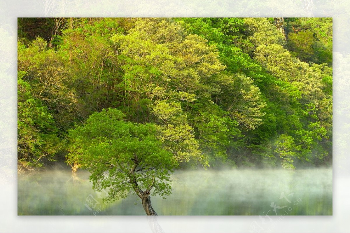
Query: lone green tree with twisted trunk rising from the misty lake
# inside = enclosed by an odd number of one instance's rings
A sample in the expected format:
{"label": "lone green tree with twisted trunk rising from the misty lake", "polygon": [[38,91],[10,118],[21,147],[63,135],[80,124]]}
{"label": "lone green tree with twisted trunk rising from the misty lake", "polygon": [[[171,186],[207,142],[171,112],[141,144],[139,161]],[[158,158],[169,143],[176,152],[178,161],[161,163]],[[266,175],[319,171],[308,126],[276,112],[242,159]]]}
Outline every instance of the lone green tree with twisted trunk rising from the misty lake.
{"label": "lone green tree with twisted trunk rising from the misty lake", "polygon": [[91,172],[93,189],[108,189],[107,202],[135,192],[147,215],[157,215],[152,195],[171,193],[170,175],[176,165],[162,148],[153,124],[123,121],[116,109],[92,114],[83,126],[70,131],[68,162],[78,162]]}

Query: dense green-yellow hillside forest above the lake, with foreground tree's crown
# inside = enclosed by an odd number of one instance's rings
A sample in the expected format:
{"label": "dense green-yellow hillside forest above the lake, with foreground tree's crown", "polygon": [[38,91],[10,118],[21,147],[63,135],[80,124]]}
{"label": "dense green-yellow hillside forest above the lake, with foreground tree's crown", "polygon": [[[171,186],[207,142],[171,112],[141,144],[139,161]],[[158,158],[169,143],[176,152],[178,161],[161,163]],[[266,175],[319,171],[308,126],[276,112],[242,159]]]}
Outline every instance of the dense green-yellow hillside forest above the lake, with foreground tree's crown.
{"label": "dense green-yellow hillside forest above the lake, with foreground tree's crown", "polygon": [[331,165],[332,19],[18,18],[19,166],[135,151],[159,180]]}

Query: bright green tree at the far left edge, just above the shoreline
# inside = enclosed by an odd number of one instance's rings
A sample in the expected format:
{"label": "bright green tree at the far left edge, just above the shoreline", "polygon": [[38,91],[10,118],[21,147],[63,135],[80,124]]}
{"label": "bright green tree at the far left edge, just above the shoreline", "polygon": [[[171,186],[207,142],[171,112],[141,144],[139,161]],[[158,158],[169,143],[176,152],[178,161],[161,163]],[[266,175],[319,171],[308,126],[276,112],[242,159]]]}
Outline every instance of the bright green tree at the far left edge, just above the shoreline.
{"label": "bright green tree at the far left edge, just above the shoreline", "polygon": [[55,154],[63,146],[47,107],[31,93],[30,85],[18,74],[18,160],[42,166],[45,158],[55,161]]}

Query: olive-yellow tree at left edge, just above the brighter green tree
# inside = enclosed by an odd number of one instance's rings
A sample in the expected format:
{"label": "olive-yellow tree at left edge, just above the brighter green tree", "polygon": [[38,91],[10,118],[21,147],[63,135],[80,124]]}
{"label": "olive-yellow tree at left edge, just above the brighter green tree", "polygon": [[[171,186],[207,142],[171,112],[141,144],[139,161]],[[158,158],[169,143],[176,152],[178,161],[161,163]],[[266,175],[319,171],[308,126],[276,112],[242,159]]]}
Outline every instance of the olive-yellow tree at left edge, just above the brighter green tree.
{"label": "olive-yellow tree at left edge, just above the brighter green tree", "polygon": [[18,71],[23,74],[22,79],[32,87],[33,96],[47,106],[57,127],[66,130],[73,126],[77,99],[69,88],[71,79],[64,62],[40,37],[28,48],[18,43]]}

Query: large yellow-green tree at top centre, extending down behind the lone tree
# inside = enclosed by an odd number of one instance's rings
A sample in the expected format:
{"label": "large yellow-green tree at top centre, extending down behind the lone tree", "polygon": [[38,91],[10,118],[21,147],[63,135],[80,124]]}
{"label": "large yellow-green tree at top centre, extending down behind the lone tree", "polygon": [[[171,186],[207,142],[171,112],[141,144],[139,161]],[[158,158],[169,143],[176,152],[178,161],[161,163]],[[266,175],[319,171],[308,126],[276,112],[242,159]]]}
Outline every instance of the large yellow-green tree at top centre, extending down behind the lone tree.
{"label": "large yellow-green tree at top centre, extending down behind the lone tree", "polygon": [[129,120],[156,123],[177,161],[207,166],[187,113],[198,98],[210,97],[208,80],[224,69],[215,46],[198,35],[187,35],[171,19],[134,23],[127,35],[111,37],[123,73],[124,95],[116,107]]}

